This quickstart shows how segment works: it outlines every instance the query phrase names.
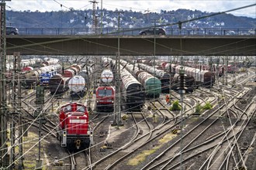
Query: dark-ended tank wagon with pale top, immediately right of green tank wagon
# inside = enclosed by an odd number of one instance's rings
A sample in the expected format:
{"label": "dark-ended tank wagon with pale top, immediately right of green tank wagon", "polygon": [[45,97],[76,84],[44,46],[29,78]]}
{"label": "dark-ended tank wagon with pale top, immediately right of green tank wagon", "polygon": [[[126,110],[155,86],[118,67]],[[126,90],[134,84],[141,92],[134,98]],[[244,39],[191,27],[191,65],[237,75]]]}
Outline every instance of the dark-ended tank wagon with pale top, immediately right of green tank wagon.
{"label": "dark-ended tank wagon with pale top, immediately right of green tank wagon", "polygon": [[161,81],[161,91],[168,93],[170,84],[170,74],[166,73],[164,70],[158,70],[156,66],[147,66],[146,64],[140,63],[140,68],[146,70],[148,73],[157,76]]}

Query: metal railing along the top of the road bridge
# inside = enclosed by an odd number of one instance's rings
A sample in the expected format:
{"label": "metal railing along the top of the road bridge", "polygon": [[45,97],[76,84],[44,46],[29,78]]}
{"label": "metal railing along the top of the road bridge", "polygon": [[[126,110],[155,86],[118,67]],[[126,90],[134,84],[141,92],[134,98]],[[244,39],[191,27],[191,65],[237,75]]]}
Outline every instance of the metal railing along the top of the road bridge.
{"label": "metal railing along the top of the road bridge", "polygon": [[[138,36],[145,29],[120,28],[18,28],[19,35],[120,35]],[[168,28],[168,36],[256,36],[256,29]]]}

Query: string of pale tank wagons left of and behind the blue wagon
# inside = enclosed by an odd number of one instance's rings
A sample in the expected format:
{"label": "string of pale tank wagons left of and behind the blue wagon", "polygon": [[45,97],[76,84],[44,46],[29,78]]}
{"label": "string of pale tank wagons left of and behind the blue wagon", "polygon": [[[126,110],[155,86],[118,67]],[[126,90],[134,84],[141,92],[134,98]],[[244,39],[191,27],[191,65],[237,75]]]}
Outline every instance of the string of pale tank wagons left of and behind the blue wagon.
{"label": "string of pale tank wagons left of and behind the blue wagon", "polygon": [[32,87],[33,85],[37,85],[40,83],[40,76],[42,73],[47,73],[47,72],[61,72],[61,65],[56,64],[56,65],[51,65],[51,66],[43,66],[40,67],[40,69],[37,70],[30,70],[27,71],[24,74],[24,80],[26,83],[26,87]]}

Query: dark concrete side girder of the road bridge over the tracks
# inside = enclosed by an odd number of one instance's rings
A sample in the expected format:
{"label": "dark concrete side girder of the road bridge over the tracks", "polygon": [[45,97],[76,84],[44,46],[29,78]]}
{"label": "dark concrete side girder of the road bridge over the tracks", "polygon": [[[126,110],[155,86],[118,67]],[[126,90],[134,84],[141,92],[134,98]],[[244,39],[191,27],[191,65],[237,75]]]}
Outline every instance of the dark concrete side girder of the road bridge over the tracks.
{"label": "dark concrete side girder of the road bridge over the tracks", "polygon": [[[119,39],[119,41],[118,41]],[[12,55],[255,56],[255,36],[7,36]]]}

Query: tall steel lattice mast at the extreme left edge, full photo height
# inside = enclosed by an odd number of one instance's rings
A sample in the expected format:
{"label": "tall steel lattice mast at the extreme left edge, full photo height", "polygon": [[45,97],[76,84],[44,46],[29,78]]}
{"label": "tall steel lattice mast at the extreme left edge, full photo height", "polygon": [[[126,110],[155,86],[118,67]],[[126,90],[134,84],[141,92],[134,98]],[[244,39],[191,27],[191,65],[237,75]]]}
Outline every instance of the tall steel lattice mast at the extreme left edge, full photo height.
{"label": "tall steel lattice mast at the extreme left edge, full photo height", "polygon": [[7,98],[6,98],[6,25],[5,25],[5,0],[0,2],[0,168],[9,165],[7,154]]}

